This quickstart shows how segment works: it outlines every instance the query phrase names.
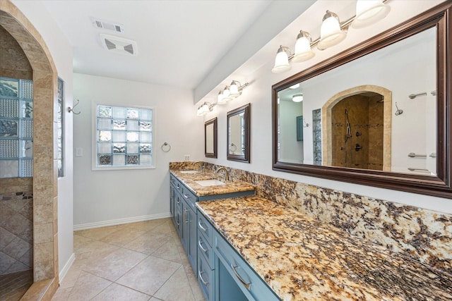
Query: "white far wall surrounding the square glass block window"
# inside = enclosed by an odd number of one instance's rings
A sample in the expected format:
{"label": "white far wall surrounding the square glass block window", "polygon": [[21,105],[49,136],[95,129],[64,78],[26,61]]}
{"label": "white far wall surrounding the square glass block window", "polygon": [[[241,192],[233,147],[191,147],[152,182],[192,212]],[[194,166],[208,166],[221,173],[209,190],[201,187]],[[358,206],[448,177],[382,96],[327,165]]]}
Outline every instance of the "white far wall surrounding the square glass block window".
{"label": "white far wall surrounding the square glass block window", "polygon": [[[74,73],[74,228],[105,226],[169,216],[170,161],[203,159],[204,121],[196,116],[190,90]],[[92,103],[150,106],[155,109],[154,169],[92,171]],[[164,142],[171,145],[163,152]]]}

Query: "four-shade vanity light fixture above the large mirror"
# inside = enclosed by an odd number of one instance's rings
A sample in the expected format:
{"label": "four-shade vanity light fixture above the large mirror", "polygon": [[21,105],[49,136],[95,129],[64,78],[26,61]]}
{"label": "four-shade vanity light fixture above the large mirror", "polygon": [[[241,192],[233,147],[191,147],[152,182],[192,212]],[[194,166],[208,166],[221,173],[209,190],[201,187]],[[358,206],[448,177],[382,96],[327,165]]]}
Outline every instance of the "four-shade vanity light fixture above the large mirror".
{"label": "four-shade vanity light fixture above the large mirror", "polygon": [[295,43],[295,54],[291,54],[289,47],[280,45],[271,71],[283,73],[290,70],[290,61],[299,63],[315,56],[312,47],[317,46],[317,49],[325,50],[342,42],[347,37],[348,27],[362,28],[386,17],[391,11],[391,7],[385,4],[387,1],[389,0],[357,0],[356,15],[343,23],[340,23],[338,15],[326,11],[320,37],[312,41],[309,32],[300,30]]}

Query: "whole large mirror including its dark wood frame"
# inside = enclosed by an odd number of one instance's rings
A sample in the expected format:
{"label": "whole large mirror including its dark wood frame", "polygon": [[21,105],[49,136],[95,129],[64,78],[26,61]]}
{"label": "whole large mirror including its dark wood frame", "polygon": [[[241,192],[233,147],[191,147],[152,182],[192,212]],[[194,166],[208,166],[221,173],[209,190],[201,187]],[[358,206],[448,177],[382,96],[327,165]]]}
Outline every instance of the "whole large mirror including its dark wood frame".
{"label": "whole large mirror including its dark wood frame", "polygon": [[273,85],[273,170],[452,198],[450,13]]}

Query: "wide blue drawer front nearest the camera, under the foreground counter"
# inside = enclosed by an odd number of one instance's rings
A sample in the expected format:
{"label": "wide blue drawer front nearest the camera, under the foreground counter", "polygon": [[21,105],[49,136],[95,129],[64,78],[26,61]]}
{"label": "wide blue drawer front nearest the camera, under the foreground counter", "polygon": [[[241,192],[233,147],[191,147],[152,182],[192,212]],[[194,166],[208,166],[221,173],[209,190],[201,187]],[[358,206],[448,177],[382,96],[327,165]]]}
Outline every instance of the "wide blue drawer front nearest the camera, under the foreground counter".
{"label": "wide blue drawer front nearest the camera, under the foreground counter", "polygon": [[280,300],[220,233],[214,235],[215,254],[249,300]]}

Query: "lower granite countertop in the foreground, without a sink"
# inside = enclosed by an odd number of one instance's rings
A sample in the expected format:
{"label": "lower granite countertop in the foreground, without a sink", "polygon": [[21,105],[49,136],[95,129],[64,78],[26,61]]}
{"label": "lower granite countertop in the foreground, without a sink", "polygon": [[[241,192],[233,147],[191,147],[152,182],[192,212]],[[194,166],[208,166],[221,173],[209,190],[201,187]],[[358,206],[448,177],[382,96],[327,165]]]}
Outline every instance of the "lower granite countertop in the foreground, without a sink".
{"label": "lower granite countertop in the foreground, without a sink", "polygon": [[259,197],[196,206],[282,300],[452,300],[452,276]]}

